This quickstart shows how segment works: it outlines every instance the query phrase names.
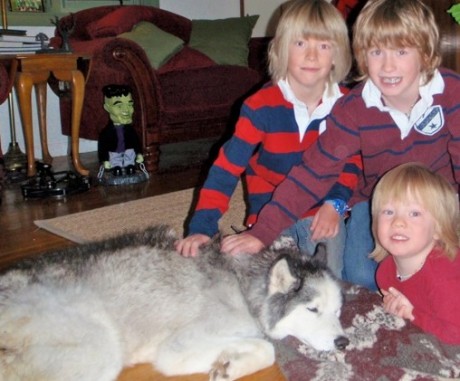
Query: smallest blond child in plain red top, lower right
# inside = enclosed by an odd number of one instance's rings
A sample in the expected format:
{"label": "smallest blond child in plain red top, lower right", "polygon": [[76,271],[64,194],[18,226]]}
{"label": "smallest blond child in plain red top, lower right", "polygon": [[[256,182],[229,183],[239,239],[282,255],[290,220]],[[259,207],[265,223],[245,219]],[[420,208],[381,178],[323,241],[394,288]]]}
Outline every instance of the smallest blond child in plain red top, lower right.
{"label": "smallest blond child in plain red top, lower right", "polygon": [[385,311],[459,345],[457,192],[421,164],[400,165],[375,187],[372,221]]}

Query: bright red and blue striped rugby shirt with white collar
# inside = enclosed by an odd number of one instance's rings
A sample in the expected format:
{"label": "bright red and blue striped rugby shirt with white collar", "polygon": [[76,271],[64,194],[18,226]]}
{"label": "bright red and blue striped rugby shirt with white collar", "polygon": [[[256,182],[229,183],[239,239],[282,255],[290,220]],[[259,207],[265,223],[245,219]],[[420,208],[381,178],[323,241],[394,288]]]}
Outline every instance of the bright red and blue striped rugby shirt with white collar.
{"label": "bright red and blue striped rugby shirt with white collar", "polygon": [[[337,88],[337,97],[345,92]],[[333,103],[333,102],[332,102]],[[332,104],[330,106],[332,108]],[[259,211],[270,201],[275,187],[302,161],[304,151],[316,141],[326,115],[309,122],[303,138],[294,114],[294,106],[283,96],[278,85],[267,84],[243,104],[233,136],[222,146],[200,191],[188,234],[213,236],[218,222],[227,211],[230,198],[241,175],[247,185],[248,217],[253,224]],[[324,110],[323,110],[324,111]],[[349,200],[358,182],[359,156],[330,190],[330,199]],[[318,200],[305,216],[314,214]]]}

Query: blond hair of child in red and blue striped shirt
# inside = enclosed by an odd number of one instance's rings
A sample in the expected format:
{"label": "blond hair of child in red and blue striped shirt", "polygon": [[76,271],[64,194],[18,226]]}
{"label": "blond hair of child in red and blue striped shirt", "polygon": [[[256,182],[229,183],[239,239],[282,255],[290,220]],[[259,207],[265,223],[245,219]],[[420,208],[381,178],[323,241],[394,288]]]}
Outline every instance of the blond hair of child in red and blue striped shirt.
{"label": "blond hair of child in red and blue striped shirt", "polygon": [[345,20],[325,0],[292,0],[283,10],[268,51],[268,70],[273,82],[286,79],[289,45],[299,38],[313,37],[331,42],[334,67],[329,84],[341,82],[351,68],[351,48]]}

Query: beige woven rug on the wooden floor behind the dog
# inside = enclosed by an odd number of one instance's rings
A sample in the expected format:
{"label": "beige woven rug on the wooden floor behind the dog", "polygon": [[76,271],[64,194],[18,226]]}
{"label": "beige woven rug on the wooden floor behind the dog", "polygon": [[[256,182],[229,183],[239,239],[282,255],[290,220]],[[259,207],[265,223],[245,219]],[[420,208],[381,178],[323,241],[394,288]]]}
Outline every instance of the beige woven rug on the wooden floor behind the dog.
{"label": "beige woven rug on the wooden floor behind the dog", "polygon": [[[97,241],[158,224],[170,225],[182,236],[193,196],[194,190],[186,189],[48,220],[36,220],[34,223],[77,243]],[[232,225],[242,228],[245,210],[240,183],[230,201],[228,212],[220,221],[221,231],[224,234],[234,233]]]}

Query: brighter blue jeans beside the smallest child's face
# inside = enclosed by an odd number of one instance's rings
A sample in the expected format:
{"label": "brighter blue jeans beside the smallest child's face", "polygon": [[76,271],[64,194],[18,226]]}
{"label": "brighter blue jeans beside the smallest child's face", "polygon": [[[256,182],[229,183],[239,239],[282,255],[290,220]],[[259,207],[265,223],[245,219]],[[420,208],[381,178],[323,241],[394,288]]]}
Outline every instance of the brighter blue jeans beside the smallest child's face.
{"label": "brighter blue jeans beside the smallest child's face", "polygon": [[375,291],[377,290],[375,283],[377,262],[369,258],[375,244],[368,201],[360,202],[351,209],[346,230],[342,278]]}

